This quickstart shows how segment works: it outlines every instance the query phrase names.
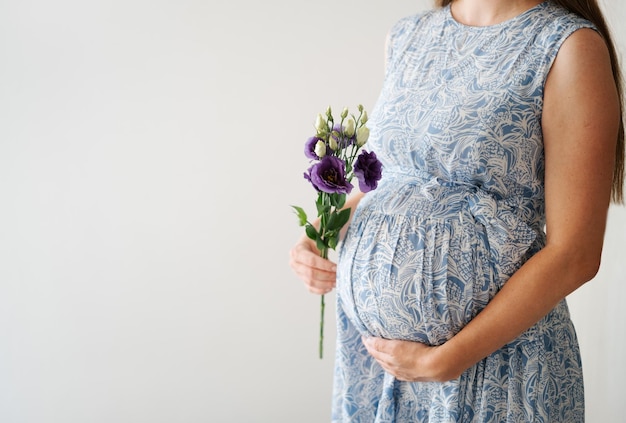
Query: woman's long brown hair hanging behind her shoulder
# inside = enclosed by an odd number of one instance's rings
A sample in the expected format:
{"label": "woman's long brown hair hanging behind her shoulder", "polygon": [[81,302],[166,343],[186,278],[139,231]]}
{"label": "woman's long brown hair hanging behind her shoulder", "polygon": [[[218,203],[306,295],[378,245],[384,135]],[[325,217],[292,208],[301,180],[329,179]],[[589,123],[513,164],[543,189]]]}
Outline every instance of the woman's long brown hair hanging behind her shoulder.
{"label": "woman's long brown hair hanging behind her shoulder", "polygon": [[[453,0],[435,0],[435,4],[439,7],[444,7],[452,3]],[[552,0],[555,4],[569,10],[578,16],[587,19],[589,22],[595,25],[598,32],[604,38],[604,42],[609,50],[609,56],[611,58],[611,68],[613,70],[613,79],[615,80],[615,86],[617,88],[617,95],[619,96],[620,105],[620,123],[619,132],[617,135],[617,145],[615,147],[615,167],[613,169],[613,187],[611,190],[611,199],[614,203],[624,202],[624,114],[623,114],[623,87],[622,87],[622,74],[620,71],[619,61],[617,59],[617,52],[615,50],[615,44],[613,43],[613,37],[611,37],[611,31],[609,30],[604,15],[598,6],[597,0]]]}

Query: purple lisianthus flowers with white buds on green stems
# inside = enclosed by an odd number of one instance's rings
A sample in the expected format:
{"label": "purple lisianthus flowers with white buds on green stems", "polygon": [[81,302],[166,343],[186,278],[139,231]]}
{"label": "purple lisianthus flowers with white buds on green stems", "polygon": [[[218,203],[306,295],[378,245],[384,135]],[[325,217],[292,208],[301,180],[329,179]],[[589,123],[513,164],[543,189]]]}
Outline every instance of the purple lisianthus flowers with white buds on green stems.
{"label": "purple lisianthus flowers with white buds on green stems", "polygon": [[[349,114],[347,108],[341,113],[339,122],[335,122],[330,107],[326,116],[321,113],[315,121],[316,134],[310,137],[304,146],[304,154],[311,159],[311,167],[304,173],[317,191],[316,228],[308,221],[305,211],[292,206],[298,216],[300,226],[305,227],[309,238],[315,241],[320,255],[328,258],[328,250],[334,250],[339,243],[339,234],[350,220],[350,209],[344,208],[346,197],[352,191],[352,179],[356,176],[361,192],[376,189],[381,178],[382,165],[374,152],[367,152],[362,147],[369,138],[367,112],[358,106],[358,116]],[[321,296],[321,318],[319,355],[323,357],[324,347],[324,295]]]}

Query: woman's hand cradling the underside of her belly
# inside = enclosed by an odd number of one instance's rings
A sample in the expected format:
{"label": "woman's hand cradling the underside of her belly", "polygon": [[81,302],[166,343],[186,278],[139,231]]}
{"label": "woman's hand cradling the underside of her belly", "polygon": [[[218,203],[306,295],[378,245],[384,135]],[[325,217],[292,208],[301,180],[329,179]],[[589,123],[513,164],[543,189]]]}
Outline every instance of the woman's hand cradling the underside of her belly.
{"label": "woman's hand cradling the underside of her belly", "polygon": [[420,342],[363,337],[363,345],[385,371],[407,382],[444,382],[458,377],[455,370],[441,366],[438,347]]}

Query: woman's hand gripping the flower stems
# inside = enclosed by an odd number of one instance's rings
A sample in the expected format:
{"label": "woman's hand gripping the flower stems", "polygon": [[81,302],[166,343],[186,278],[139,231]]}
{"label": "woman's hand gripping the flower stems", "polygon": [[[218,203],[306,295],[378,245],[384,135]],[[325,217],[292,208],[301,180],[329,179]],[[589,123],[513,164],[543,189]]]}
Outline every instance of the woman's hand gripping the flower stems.
{"label": "woman's hand gripping the flower stems", "polygon": [[335,287],[337,266],[320,257],[315,243],[303,236],[290,251],[293,271],[313,294],[327,294]]}

